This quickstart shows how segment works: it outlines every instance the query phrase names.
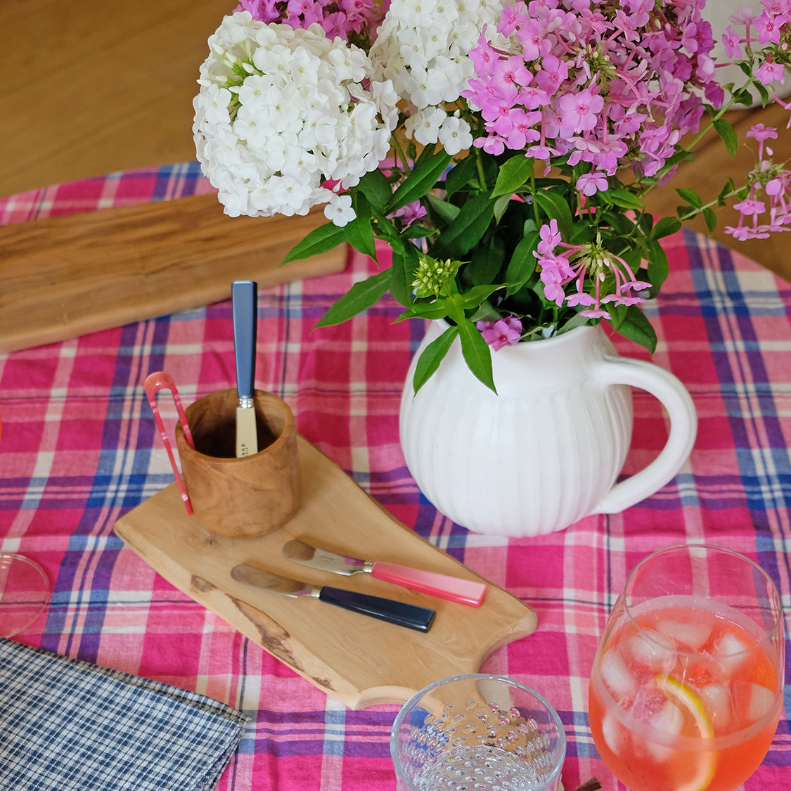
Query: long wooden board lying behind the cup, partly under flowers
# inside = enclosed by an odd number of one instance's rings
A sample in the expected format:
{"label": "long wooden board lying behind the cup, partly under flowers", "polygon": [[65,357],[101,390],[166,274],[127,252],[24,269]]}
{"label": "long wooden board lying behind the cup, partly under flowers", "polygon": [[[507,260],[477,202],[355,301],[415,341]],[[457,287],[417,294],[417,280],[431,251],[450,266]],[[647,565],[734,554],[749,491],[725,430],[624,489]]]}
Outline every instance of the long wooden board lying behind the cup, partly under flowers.
{"label": "long wooden board lying behind the cup, partly under flowers", "polygon": [[0,353],[209,305],[234,280],[342,271],[345,245],[280,266],[326,221],[230,218],[210,193],[0,227]]}

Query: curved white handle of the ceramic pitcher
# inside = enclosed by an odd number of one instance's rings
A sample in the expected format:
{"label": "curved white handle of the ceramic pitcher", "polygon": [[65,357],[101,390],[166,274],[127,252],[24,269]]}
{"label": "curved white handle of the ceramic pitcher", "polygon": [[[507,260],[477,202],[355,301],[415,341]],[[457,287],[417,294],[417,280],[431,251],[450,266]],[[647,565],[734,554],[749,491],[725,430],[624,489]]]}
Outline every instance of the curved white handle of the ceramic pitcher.
{"label": "curved white handle of the ceramic pitcher", "polygon": [[657,398],[668,411],[668,441],[648,467],[619,481],[591,513],[619,513],[659,490],[681,469],[698,432],[698,416],[687,388],[678,377],[643,360],[607,357],[596,365],[599,384],[627,384]]}

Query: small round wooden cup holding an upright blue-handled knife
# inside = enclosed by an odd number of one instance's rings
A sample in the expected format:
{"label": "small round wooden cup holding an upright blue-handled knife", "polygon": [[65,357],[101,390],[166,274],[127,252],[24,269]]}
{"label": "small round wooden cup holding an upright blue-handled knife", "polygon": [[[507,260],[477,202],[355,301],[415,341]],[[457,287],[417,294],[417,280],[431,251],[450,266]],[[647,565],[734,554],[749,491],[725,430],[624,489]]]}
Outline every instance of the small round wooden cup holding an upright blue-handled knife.
{"label": "small round wooden cup holding an upright blue-handled knife", "polygon": [[297,430],[288,404],[272,393],[253,396],[259,452],[236,457],[236,388],[204,395],[185,410],[195,448],[176,425],[184,486],[195,517],[217,536],[252,539],[273,532],[297,511]]}

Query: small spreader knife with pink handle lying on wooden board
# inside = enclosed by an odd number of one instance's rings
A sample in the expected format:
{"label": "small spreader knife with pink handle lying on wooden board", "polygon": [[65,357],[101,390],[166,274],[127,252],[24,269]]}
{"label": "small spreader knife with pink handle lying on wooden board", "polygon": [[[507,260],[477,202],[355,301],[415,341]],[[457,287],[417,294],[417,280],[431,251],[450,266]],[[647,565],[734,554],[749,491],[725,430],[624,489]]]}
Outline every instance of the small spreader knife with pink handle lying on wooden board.
{"label": "small spreader knife with pink handle lying on wooden board", "polygon": [[346,577],[356,573],[369,573],[378,580],[395,582],[395,585],[401,585],[403,588],[430,593],[432,596],[467,604],[469,607],[480,607],[483,597],[486,596],[486,585],[483,582],[412,569],[408,566],[396,566],[394,563],[351,558],[346,554],[314,547],[299,539],[286,543],[283,554],[289,560],[312,569],[343,574]]}

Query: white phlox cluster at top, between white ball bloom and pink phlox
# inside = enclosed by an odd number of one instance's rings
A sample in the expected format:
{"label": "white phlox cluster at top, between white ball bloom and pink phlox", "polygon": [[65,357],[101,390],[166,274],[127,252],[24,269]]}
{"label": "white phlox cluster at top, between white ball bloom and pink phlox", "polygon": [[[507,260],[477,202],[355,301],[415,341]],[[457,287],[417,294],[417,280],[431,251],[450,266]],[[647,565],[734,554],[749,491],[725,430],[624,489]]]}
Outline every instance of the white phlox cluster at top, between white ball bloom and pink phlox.
{"label": "white phlox cluster at top, between white ball bloom and pink phlox", "polygon": [[[413,113],[459,100],[473,75],[467,53],[477,46],[484,25],[494,28],[504,2],[392,0],[371,47],[375,78],[390,80],[395,93],[414,106]],[[419,129],[423,139],[415,139],[423,145],[439,139],[433,136],[439,127],[426,118],[407,121],[407,134]],[[467,133],[455,122],[447,127],[448,153],[459,145],[460,135],[467,141]]]}

